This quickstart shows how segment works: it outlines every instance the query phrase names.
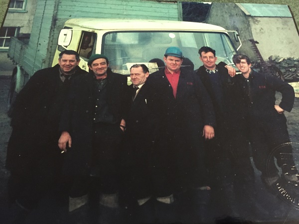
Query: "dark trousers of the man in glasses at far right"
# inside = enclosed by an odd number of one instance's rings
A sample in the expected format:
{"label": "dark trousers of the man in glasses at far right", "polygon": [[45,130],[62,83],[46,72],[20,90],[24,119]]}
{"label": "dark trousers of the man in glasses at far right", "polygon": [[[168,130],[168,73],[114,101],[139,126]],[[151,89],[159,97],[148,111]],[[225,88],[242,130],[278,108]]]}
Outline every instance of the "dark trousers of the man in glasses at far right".
{"label": "dark trousers of the man in glasses at far right", "polygon": [[285,115],[278,114],[276,119],[268,120],[252,119],[250,129],[253,160],[257,169],[262,172],[262,177],[278,175],[274,157],[283,172],[290,172],[290,167],[295,166],[292,146],[277,148],[290,142]]}

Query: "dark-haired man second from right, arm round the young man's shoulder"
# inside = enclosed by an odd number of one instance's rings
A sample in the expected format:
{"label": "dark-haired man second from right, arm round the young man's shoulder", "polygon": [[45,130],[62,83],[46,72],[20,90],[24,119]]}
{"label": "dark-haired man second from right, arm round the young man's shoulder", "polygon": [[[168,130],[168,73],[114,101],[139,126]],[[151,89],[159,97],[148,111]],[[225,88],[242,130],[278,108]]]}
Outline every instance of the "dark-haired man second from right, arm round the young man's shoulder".
{"label": "dark-haired man second from right, arm round the young man's shoulder", "polygon": [[[252,198],[254,171],[244,114],[240,112],[244,105],[242,89],[235,84],[236,77],[231,77],[226,68],[219,66],[222,62],[216,65],[215,50],[204,46],[198,53],[203,65],[197,70],[197,75],[211,97],[217,121],[215,138],[204,142],[212,201],[215,202],[212,207],[231,216],[238,216],[243,211],[253,213],[238,204],[252,208],[250,204],[255,203]],[[245,196],[244,192],[247,192]]]}

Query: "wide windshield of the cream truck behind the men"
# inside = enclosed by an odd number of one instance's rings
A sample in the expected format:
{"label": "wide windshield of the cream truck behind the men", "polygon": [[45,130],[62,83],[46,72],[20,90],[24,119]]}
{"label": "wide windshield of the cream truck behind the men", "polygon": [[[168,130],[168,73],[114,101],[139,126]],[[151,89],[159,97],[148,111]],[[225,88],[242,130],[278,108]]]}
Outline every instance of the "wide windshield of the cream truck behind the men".
{"label": "wide windshield of the cream truck behind the men", "polygon": [[134,31],[108,32],[103,37],[102,53],[109,59],[114,72],[129,75],[133,64],[145,63],[150,72],[164,67],[163,56],[169,46],[179,47],[184,56],[182,66],[198,69],[198,49],[209,46],[216,50],[217,62],[233,64],[232,56],[236,50],[225,33],[221,32],[172,32],[172,31]]}

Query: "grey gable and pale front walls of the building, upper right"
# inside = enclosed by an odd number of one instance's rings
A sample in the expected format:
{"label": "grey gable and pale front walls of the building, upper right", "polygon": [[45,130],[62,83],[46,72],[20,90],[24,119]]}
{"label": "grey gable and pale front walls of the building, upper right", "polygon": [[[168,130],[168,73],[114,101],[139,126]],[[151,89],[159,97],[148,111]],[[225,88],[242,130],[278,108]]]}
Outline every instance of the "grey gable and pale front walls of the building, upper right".
{"label": "grey gable and pale front walls of the building, upper right", "polygon": [[299,57],[298,32],[292,17],[253,17],[236,3],[212,3],[206,22],[237,30],[242,41],[239,52],[254,61],[256,55],[249,39],[259,42],[257,47],[264,60],[271,55]]}

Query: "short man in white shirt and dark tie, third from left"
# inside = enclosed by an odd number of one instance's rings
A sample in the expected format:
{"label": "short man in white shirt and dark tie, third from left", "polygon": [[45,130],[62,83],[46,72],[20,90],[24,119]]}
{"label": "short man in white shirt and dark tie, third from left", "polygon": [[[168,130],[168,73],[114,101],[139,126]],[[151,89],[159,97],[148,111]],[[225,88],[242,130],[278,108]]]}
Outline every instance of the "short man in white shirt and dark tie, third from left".
{"label": "short man in white shirt and dark tie, third from left", "polygon": [[[132,85],[131,108],[126,119],[125,132],[125,182],[134,201],[134,219],[137,223],[148,223],[154,218],[152,208],[152,147],[155,140],[156,116],[152,111],[151,88],[147,81],[149,68],[136,64],[130,68]],[[127,193],[126,192],[126,193]],[[141,212],[145,211],[145,212]],[[141,213],[148,213],[148,215]]]}

